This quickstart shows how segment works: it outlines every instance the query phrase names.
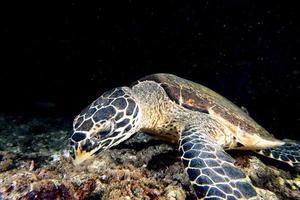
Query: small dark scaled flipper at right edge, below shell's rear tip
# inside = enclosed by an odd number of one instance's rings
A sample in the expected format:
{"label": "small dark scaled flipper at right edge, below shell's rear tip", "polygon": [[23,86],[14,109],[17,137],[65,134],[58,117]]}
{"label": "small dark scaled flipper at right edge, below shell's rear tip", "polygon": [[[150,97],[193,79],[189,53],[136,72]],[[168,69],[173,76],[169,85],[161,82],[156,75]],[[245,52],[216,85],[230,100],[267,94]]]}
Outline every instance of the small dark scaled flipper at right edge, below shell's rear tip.
{"label": "small dark scaled flipper at right edge, below shell's rear tip", "polygon": [[266,157],[285,162],[292,167],[300,166],[300,144],[286,141],[283,145],[256,151]]}

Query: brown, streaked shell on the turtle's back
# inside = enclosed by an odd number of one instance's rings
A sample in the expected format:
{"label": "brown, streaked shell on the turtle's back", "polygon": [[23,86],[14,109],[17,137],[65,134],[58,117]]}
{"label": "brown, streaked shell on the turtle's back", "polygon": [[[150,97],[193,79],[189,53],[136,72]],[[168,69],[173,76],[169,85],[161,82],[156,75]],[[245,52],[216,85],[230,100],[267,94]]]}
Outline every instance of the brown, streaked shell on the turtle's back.
{"label": "brown, streaked shell on the turtle's back", "polygon": [[249,134],[274,140],[273,136],[244,110],[203,85],[172,74],[152,74],[139,81],[144,80],[159,83],[169,98],[177,104],[190,110],[209,114],[235,132],[239,129]]}

